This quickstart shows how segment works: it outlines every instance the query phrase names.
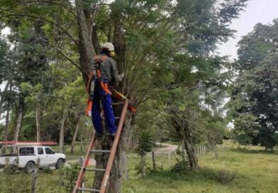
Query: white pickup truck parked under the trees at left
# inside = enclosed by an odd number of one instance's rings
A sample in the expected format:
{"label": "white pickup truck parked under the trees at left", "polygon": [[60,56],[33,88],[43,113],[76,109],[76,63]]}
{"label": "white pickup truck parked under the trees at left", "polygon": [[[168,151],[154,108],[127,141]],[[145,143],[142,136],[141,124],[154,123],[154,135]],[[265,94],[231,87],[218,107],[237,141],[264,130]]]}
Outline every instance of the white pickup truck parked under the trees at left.
{"label": "white pickup truck parked under the trees at left", "polygon": [[55,166],[58,169],[65,163],[66,156],[62,153],[55,153],[48,146],[3,146],[0,152],[0,167],[8,164],[16,166],[18,169],[24,169],[26,172],[33,172],[38,159],[40,159],[40,168]]}

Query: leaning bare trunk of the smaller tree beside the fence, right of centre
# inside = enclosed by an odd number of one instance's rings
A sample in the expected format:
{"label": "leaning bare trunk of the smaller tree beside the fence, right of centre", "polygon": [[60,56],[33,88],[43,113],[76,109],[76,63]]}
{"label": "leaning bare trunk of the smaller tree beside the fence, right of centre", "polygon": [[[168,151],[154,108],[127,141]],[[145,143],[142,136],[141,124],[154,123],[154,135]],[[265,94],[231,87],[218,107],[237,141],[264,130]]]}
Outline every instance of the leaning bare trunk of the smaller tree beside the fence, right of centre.
{"label": "leaning bare trunk of the smaller tree beside the fence, right of centre", "polygon": [[187,157],[189,159],[189,164],[191,170],[199,169],[198,159],[194,150],[194,144],[191,134],[191,111],[179,111],[177,108],[171,109],[172,112],[172,123],[176,128],[177,133],[182,139],[182,143],[187,152]]}

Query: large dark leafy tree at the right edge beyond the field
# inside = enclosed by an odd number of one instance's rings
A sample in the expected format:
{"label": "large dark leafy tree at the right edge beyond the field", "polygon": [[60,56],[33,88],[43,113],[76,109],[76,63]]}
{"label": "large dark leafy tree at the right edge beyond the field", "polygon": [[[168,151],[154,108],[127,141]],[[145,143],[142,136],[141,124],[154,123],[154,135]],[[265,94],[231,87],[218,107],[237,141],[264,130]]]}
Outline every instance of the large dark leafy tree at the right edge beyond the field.
{"label": "large dark leafy tree at the right edge beyond the field", "polygon": [[231,92],[230,114],[240,143],[272,149],[277,144],[277,20],[257,24],[239,42],[240,74]]}

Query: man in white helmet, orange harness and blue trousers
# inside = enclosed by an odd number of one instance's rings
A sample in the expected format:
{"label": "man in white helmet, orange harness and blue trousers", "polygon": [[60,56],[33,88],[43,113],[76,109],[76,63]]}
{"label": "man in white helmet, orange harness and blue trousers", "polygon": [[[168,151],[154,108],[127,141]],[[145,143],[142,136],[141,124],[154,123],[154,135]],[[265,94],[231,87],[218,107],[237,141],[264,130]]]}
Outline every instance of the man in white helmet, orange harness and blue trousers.
{"label": "man in white helmet, orange harness and blue trousers", "polygon": [[91,75],[87,87],[90,100],[92,101],[91,119],[96,129],[96,136],[101,137],[103,133],[101,125],[100,101],[104,109],[106,127],[111,136],[116,135],[115,116],[112,108],[111,84],[118,84],[122,76],[118,75],[116,61],[112,59],[114,46],[112,43],[104,43],[101,54],[95,55],[91,62]]}

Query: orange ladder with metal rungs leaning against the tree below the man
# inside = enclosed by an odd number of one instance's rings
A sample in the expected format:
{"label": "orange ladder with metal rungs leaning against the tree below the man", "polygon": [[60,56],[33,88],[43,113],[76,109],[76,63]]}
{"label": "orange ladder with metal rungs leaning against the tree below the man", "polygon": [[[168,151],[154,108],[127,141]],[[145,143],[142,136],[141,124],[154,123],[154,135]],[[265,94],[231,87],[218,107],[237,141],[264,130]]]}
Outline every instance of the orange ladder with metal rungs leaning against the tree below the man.
{"label": "orange ladder with metal rungs leaning against the tree below the man", "polygon": [[[110,175],[110,172],[111,172],[111,168],[112,168],[112,165],[113,165],[113,160],[114,160],[116,149],[117,149],[117,146],[118,146],[118,140],[120,139],[120,136],[121,136],[121,131],[122,131],[122,128],[123,128],[123,121],[125,120],[126,111],[128,110],[128,103],[129,103],[128,99],[125,99],[124,102],[112,104],[112,105],[123,105],[123,109],[121,111],[121,116],[120,116],[120,119],[118,121],[116,136],[113,140],[112,148],[111,148],[111,150],[94,150],[94,145],[96,143],[96,136],[94,134],[94,136],[91,138],[91,142],[89,144],[89,148],[88,148],[86,157],[84,159],[82,168],[79,172],[79,176],[77,178],[77,182],[75,184],[75,187],[74,187],[74,190],[73,190],[72,193],[77,193],[79,191],[100,192],[100,193],[105,192],[106,184],[109,180],[109,175]],[[108,160],[107,165],[106,165],[106,169],[104,169],[104,168],[87,168],[87,165],[88,165],[89,159],[91,158],[92,153],[110,153],[109,160]],[[101,182],[101,189],[89,189],[89,188],[82,187],[82,181],[83,181],[84,174],[85,174],[86,171],[104,172],[104,179]]]}

